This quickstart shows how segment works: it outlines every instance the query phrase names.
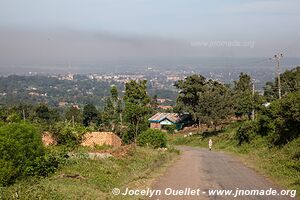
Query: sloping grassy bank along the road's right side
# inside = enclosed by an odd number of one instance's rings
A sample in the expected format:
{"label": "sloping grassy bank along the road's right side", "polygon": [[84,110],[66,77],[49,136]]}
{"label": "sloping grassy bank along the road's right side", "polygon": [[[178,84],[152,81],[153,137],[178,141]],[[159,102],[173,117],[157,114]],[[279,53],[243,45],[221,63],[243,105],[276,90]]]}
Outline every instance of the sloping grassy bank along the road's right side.
{"label": "sloping grassy bank along the road's right side", "polygon": [[236,122],[219,132],[201,132],[191,137],[183,134],[169,136],[173,145],[188,145],[208,148],[208,140],[213,140],[213,149],[237,156],[247,166],[269,177],[286,189],[296,189],[300,197],[300,138],[281,148],[269,148],[265,138],[257,137],[250,144],[238,145],[235,140],[237,128],[243,122]]}

